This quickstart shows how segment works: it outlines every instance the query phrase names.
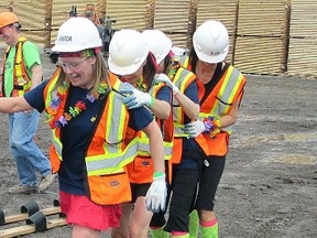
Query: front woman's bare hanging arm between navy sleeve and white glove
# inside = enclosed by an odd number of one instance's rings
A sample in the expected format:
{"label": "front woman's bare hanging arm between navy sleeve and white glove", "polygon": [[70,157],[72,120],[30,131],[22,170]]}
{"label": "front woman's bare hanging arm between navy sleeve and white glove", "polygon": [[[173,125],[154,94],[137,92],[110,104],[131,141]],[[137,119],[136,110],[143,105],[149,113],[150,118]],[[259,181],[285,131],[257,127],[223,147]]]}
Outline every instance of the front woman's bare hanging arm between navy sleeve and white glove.
{"label": "front woman's bare hanging arm between navy sleeve and white glove", "polygon": [[149,137],[151,158],[154,162],[154,172],[165,173],[163,138],[155,120],[143,129]]}

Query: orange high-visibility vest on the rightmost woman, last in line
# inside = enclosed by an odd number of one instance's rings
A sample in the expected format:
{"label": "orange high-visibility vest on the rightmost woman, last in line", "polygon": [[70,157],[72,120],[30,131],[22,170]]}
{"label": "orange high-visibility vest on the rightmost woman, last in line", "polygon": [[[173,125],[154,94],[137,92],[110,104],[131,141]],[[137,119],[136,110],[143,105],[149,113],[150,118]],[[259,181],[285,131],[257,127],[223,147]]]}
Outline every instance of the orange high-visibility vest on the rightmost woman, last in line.
{"label": "orange high-visibility vest on the rightmost woman, last in line", "polygon": [[[198,84],[201,83],[199,82]],[[241,96],[244,85],[245,77],[230,65],[212,91],[204,101],[200,101],[199,118],[220,118],[227,115],[232,104]],[[206,155],[221,156],[228,152],[229,134],[231,132],[232,126],[221,128],[220,133],[218,133],[216,138],[210,138],[209,134],[203,133],[203,137],[197,137],[196,141]]]}

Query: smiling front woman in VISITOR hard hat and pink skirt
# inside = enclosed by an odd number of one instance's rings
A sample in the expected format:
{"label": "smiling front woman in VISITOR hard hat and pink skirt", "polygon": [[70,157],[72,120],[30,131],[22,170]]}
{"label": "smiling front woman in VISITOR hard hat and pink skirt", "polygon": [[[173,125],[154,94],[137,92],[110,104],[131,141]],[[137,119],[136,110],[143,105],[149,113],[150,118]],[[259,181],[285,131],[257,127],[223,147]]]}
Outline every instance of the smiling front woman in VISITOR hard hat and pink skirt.
{"label": "smiling front woman in VISITOR hard hat and pink skirt", "polygon": [[[59,53],[53,76],[23,96],[0,98],[0,112],[35,108],[46,112],[53,143],[50,159],[58,172],[62,213],[72,225],[72,237],[100,237],[119,226],[120,203],[131,201],[125,165],[138,152],[142,130],[151,143],[155,171],[164,173],[160,128],[147,109],[123,104],[127,86],[108,74],[100,53],[98,31],[87,18],[70,18],[57,33]],[[147,194],[151,203],[157,195]],[[155,205],[161,206],[160,201]]]}

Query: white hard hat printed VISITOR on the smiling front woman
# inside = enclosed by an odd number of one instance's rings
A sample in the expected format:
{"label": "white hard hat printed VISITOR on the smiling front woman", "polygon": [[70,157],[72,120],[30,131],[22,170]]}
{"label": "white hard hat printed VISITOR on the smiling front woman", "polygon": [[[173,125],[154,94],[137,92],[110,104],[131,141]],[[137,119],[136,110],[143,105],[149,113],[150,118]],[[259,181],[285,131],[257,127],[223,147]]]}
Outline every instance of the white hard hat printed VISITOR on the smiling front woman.
{"label": "white hard hat printed VISITOR on the smiling front woman", "polygon": [[69,18],[57,33],[53,52],[79,52],[102,46],[96,25],[87,18]]}

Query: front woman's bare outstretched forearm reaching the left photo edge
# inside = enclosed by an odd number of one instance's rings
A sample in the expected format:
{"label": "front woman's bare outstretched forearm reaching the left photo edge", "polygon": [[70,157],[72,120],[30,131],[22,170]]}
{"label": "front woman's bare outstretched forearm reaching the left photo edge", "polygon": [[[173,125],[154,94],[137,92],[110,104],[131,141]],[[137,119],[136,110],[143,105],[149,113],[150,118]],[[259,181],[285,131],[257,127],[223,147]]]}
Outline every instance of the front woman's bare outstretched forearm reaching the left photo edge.
{"label": "front woman's bare outstretched forearm reaching the left photo edge", "polygon": [[0,112],[2,113],[13,113],[31,109],[31,105],[28,104],[23,96],[0,98]]}

